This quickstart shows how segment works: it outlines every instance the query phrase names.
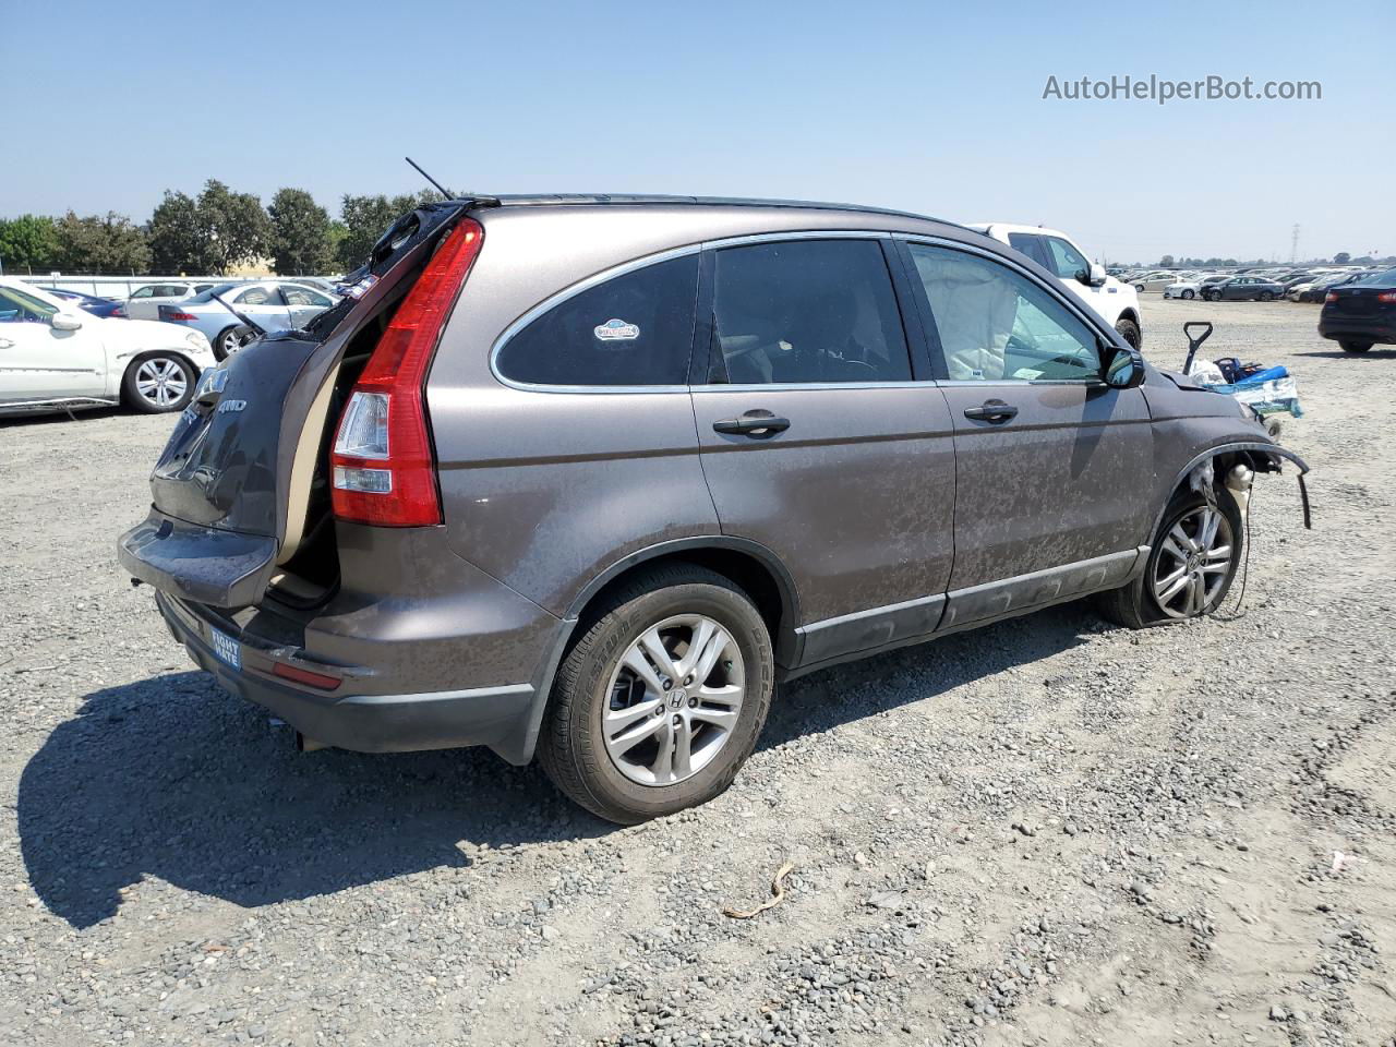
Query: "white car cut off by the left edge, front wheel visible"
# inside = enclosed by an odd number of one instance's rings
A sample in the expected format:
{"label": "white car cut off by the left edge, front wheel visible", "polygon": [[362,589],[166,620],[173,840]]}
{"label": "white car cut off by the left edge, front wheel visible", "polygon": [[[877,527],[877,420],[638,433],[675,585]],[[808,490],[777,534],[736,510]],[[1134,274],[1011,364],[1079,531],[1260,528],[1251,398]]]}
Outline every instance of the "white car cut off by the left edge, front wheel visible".
{"label": "white car cut off by the left edge, front wheel visible", "polygon": [[181,410],[214,350],[198,331],[103,320],[0,276],[0,415],[127,403]]}

